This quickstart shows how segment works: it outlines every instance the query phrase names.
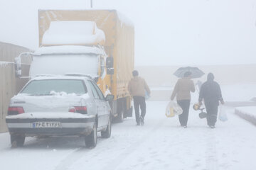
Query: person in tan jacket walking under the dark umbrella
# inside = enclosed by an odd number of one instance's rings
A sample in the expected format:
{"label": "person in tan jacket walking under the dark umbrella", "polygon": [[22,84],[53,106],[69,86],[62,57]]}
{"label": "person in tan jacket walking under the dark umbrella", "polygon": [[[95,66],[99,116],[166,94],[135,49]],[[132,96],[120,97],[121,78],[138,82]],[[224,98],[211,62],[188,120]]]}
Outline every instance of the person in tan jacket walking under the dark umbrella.
{"label": "person in tan jacket walking under the dark umbrella", "polygon": [[178,120],[183,128],[187,128],[191,92],[195,91],[195,85],[191,80],[191,72],[185,72],[183,78],[178,79],[176,82],[174,91],[171,94],[171,101],[176,96],[177,103],[183,110],[182,114],[178,115]]}

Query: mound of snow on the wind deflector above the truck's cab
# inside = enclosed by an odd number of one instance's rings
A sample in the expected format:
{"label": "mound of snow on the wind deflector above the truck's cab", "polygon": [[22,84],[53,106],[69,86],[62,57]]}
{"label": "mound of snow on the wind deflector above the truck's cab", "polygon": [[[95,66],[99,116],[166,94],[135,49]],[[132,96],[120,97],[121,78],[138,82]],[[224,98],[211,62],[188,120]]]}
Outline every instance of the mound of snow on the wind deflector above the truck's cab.
{"label": "mound of snow on the wind deflector above the truck's cab", "polygon": [[42,45],[104,45],[105,33],[94,21],[52,21]]}

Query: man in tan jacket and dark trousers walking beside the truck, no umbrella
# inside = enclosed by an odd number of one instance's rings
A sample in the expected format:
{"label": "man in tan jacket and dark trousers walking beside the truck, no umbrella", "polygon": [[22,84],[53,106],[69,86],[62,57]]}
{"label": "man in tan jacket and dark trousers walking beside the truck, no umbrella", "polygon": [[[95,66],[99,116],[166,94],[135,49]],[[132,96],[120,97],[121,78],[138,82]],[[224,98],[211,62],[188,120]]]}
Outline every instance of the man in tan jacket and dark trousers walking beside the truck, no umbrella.
{"label": "man in tan jacket and dark trousers walking beside the truck, no umbrella", "polygon": [[[128,84],[128,91],[134,100],[134,110],[137,125],[144,125],[144,117],[146,115],[145,94],[147,92],[150,96],[150,89],[146,84],[146,81],[142,77],[139,77],[139,72],[137,70],[132,72],[132,76],[133,78]],[[139,108],[141,108],[141,115],[139,115]]]}

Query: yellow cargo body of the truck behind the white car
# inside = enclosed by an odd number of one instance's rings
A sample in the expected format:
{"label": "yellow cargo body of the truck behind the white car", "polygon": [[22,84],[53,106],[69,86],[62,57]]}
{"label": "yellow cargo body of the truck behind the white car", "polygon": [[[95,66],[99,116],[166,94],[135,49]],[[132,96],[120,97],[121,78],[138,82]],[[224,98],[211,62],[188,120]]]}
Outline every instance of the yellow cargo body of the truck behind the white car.
{"label": "yellow cargo body of the truck behind the white car", "polygon": [[[110,91],[114,95],[112,110],[114,115],[131,112],[131,97],[127,90],[134,69],[134,26],[115,10],[39,10],[39,46],[42,47],[43,34],[52,21],[95,21],[97,28],[105,33],[104,49],[108,57],[113,57],[114,74],[98,79],[103,94]],[[100,69],[100,64],[99,64]],[[122,115],[119,115],[122,119]]]}

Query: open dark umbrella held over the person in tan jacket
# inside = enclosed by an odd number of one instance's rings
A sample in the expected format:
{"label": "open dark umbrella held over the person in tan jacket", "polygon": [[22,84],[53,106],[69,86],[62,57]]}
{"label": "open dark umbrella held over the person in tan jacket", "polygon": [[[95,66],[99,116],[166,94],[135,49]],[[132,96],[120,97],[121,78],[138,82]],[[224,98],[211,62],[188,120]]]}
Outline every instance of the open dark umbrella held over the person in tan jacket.
{"label": "open dark umbrella held over the person in tan jacket", "polygon": [[176,75],[176,77],[182,78],[186,72],[191,72],[191,78],[199,78],[204,74],[204,72],[201,69],[198,69],[198,67],[180,67],[176,70],[174,75]]}

